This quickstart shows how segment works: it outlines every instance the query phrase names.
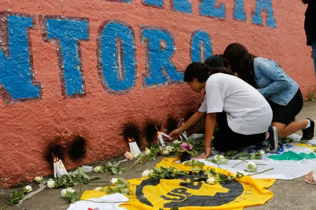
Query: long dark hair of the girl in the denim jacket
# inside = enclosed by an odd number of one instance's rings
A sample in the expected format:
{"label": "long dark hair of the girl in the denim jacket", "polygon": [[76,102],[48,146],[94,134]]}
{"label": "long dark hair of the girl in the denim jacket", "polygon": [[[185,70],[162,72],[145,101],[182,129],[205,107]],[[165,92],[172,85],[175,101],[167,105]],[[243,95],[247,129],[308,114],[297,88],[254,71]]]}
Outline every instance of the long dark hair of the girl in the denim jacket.
{"label": "long dark hair of the girl in the denim jacket", "polygon": [[223,56],[228,61],[231,70],[236,72],[240,79],[257,88],[253,67],[256,56],[251,55],[247,48],[239,43],[228,45]]}

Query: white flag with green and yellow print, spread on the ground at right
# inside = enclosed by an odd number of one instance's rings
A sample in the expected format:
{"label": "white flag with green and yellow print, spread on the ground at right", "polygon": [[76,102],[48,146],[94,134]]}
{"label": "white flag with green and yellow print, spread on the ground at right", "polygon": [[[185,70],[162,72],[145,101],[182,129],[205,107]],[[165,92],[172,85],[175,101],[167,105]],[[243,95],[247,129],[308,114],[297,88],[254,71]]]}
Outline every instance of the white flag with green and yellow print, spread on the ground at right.
{"label": "white flag with green and yellow print, spread on the ground at right", "polygon": [[[256,164],[266,164],[266,166],[258,166],[258,172],[264,171],[266,169],[274,168],[272,171],[268,171],[264,174],[254,175],[254,178],[274,178],[274,179],[285,179],[290,180],[298,178],[316,169],[316,153],[313,152],[316,140],[310,141],[308,144],[300,143],[301,136],[293,134],[290,137],[294,141],[292,143],[281,144],[275,154],[266,153],[262,160],[247,160],[253,161]],[[253,148],[246,148],[243,151],[255,152],[261,149],[260,146],[255,146]],[[220,154],[220,152],[213,151],[214,154]],[[210,157],[212,159],[213,157]],[[205,161],[203,159],[199,160],[205,163],[207,166],[217,167],[216,164]],[[222,169],[226,169],[232,173],[237,173],[246,169],[245,163],[239,163],[240,160],[230,160],[227,165],[220,165]]]}

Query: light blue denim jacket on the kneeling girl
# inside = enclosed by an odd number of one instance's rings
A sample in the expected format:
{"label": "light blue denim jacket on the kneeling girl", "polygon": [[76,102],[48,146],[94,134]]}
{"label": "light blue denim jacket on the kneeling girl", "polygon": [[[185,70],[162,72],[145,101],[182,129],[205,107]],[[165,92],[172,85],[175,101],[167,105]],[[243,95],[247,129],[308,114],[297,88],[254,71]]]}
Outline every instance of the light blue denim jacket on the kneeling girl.
{"label": "light blue denim jacket on the kneeling girl", "polygon": [[255,58],[253,66],[258,91],[278,105],[287,105],[296,94],[298,84],[274,61]]}

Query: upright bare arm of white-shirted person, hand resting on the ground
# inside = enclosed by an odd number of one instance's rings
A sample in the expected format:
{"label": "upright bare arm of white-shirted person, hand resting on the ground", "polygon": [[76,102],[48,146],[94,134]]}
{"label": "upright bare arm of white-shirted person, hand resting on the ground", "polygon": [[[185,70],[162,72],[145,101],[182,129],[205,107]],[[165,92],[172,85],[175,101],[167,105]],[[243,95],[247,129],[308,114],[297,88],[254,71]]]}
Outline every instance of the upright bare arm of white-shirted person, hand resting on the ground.
{"label": "upright bare arm of white-shirted person, hand resting on the ground", "polygon": [[216,115],[217,115],[216,112],[208,113],[206,115],[205,136],[204,136],[205,154],[198,156],[197,159],[208,158],[210,155],[213,155],[212,148],[211,148],[211,141],[212,141],[214,129],[215,129]]}

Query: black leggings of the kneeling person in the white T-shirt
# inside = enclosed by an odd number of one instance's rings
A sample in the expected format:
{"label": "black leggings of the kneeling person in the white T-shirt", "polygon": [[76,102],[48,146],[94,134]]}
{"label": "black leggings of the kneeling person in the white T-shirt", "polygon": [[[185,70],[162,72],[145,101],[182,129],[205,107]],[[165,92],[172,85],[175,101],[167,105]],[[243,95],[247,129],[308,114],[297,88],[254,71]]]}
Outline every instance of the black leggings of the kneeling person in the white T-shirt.
{"label": "black leggings of the kneeling person in the white T-shirt", "polygon": [[[213,147],[221,152],[255,145],[266,139],[266,134],[243,135],[234,132],[227,123],[226,112],[217,112],[218,131],[212,140]],[[255,123],[255,122],[254,122]]]}

